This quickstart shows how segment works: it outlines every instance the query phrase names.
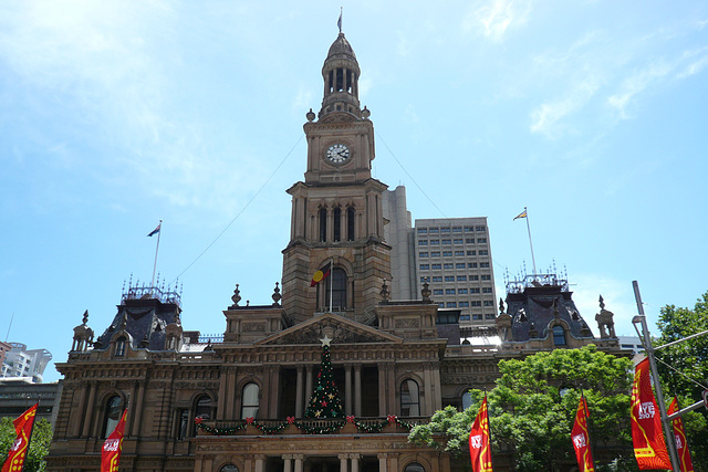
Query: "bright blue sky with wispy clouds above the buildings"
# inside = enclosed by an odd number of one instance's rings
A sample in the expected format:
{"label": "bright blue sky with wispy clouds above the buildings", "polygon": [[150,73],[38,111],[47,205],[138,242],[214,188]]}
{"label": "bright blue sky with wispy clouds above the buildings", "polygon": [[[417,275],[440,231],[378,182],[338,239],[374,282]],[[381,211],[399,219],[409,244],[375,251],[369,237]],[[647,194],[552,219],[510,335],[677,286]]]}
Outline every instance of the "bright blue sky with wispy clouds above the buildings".
{"label": "bright blue sky with wispy clouds above the buildings", "polygon": [[236,283],[269,303],[340,6],[375,177],[414,219],[488,217],[498,294],[523,207],[595,333],[602,294],[634,334],[633,280],[650,321],[708,290],[706,2],[3,2],[2,339],[14,315],[63,361],[85,310],[102,333],[160,219],[187,329],[222,333]]}

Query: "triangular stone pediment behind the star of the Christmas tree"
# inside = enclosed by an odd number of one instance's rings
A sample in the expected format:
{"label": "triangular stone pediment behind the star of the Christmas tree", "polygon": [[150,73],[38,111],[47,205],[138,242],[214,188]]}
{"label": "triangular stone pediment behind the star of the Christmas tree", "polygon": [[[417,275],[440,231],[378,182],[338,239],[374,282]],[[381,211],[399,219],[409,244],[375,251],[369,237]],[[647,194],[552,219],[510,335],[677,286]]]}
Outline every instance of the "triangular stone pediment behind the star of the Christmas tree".
{"label": "triangular stone pediment behind the star of the Christmas tree", "polygon": [[332,344],[403,343],[402,338],[392,334],[381,332],[371,326],[332,313],[325,313],[283,332],[260,339],[253,343],[253,345],[319,345],[320,339],[324,336],[331,338]]}

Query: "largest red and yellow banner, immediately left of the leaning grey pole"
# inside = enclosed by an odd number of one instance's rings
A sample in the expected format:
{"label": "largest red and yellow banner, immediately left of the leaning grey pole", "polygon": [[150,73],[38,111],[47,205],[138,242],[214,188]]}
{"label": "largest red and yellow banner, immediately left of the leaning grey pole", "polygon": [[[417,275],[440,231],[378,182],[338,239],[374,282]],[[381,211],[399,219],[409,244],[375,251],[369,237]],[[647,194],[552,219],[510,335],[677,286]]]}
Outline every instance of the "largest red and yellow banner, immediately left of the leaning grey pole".
{"label": "largest red and yellow banner, immediately left of the leaning grey pole", "polygon": [[637,364],[632,385],[632,442],[639,470],[671,469],[659,410],[649,381],[649,359]]}

